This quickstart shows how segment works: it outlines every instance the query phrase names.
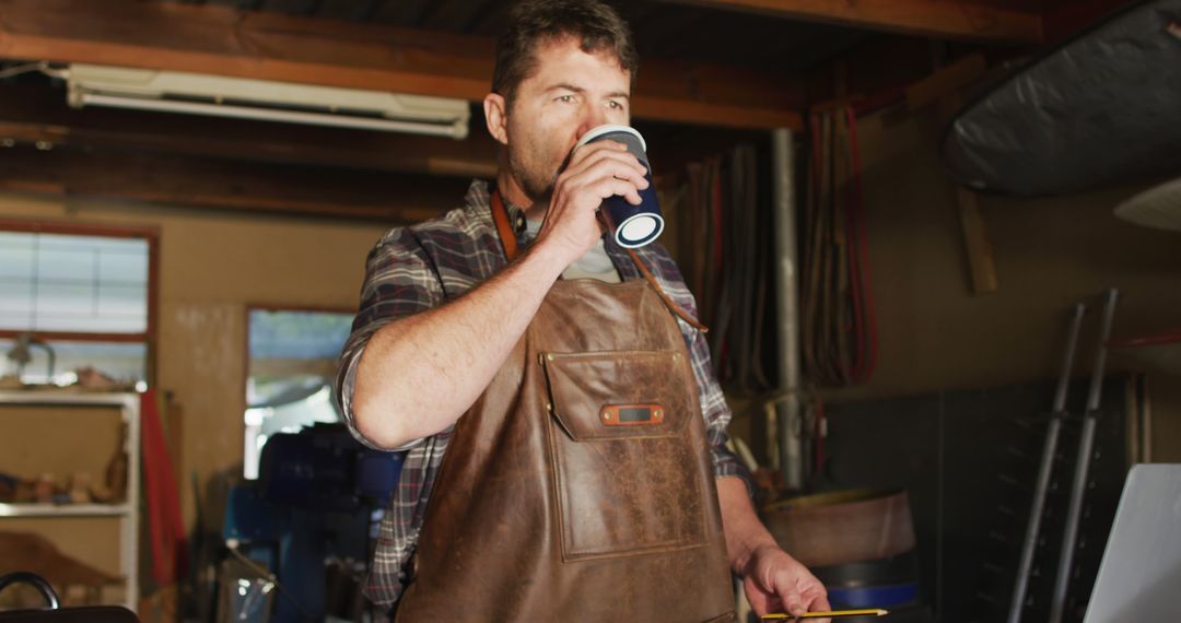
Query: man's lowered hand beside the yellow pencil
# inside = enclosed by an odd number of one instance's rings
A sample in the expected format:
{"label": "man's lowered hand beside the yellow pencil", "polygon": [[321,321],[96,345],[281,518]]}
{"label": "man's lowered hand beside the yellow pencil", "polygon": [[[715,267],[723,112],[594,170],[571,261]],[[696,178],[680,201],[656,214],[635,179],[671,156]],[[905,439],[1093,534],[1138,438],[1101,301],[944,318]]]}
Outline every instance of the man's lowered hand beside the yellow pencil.
{"label": "man's lowered hand beside the yellow pencil", "polygon": [[758,547],[751,553],[743,589],[759,616],[829,610],[824,585],[788,552],[772,545]]}

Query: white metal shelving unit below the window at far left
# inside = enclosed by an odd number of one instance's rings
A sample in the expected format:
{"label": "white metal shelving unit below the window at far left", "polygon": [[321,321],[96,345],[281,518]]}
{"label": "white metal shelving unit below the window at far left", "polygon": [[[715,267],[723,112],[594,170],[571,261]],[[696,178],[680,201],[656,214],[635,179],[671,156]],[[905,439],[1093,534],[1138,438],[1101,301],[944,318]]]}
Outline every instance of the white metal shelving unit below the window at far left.
{"label": "white metal shelving unit below the window at far left", "polygon": [[[118,407],[128,426],[123,451],[128,455],[126,500],[122,504],[0,504],[2,518],[115,517],[119,519],[119,572],[126,582],[124,605],[136,611],[139,603],[139,395],[53,391],[0,392],[2,406]],[[2,523],[0,523],[2,526]]]}

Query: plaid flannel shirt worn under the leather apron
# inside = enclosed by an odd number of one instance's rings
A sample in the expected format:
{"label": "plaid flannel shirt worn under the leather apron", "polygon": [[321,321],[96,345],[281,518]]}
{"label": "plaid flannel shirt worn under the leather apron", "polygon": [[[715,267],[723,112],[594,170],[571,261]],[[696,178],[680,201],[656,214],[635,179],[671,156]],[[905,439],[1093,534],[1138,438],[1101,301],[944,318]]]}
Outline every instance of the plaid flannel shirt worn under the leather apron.
{"label": "plaid flannel shirt worn under the leather apron", "polygon": [[[370,447],[378,446],[357,429],[351,405],[357,363],[365,345],[386,323],[451,301],[505,265],[489,191],[485,182],[472,182],[464,208],[413,227],[391,229],[368,254],[360,308],[340,355],[335,394],[350,431]],[[508,210],[510,222],[523,224],[520,208],[509,205]],[[609,238],[606,248],[624,280],[642,278],[631,257]],[[697,315],[693,296],[668,253],[659,244],[648,244],[638,254],[665,293]],[[731,413],[710,365],[709,345],[699,332],[680,319],[677,322],[691,353],[715,474],[746,479],[745,468],[725,447]],[[391,605],[402,596],[407,581],[406,565],[417,544],[451,431],[448,428],[399,448],[406,451],[402,476],[381,519],[365,585],[366,596],[377,604]]]}

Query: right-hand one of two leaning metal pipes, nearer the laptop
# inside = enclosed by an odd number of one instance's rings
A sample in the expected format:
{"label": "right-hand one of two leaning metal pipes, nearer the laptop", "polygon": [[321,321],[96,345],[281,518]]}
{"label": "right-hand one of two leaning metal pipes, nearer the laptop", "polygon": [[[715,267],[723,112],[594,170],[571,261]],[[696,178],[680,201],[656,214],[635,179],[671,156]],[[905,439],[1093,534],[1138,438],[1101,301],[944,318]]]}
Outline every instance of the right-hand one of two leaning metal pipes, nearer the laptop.
{"label": "right-hand one of two leaning metal pipes, nearer the laptop", "polygon": [[1091,368],[1091,387],[1087,394],[1083,432],[1078,439],[1078,457],[1075,459],[1075,480],[1070,487],[1070,509],[1066,511],[1066,526],[1062,538],[1062,552],[1058,557],[1058,575],[1055,577],[1053,598],[1050,602],[1050,623],[1059,623],[1066,609],[1070,565],[1075,558],[1075,540],[1078,538],[1078,518],[1082,516],[1083,493],[1087,491],[1087,470],[1091,464],[1095,425],[1100,415],[1103,367],[1107,365],[1107,341],[1111,335],[1111,317],[1115,315],[1115,303],[1118,299],[1120,291],[1113,288],[1107,291],[1103,303],[1103,324],[1100,329],[1100,342],[1095,352],[1095,366]]}

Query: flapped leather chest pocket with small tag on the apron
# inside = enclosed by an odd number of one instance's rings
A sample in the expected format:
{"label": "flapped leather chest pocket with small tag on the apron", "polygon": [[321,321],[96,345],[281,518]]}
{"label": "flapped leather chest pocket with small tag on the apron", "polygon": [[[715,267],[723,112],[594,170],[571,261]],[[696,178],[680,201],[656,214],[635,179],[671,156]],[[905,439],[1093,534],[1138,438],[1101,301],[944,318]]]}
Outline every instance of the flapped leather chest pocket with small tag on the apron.
{"label": "flapped leather chest pocket with small tag on the apron", "polygon": [[[566,560],[702,546],[710,460],[673,350],[543,354]],[[697,440],[697,441],[694,441]]]}

